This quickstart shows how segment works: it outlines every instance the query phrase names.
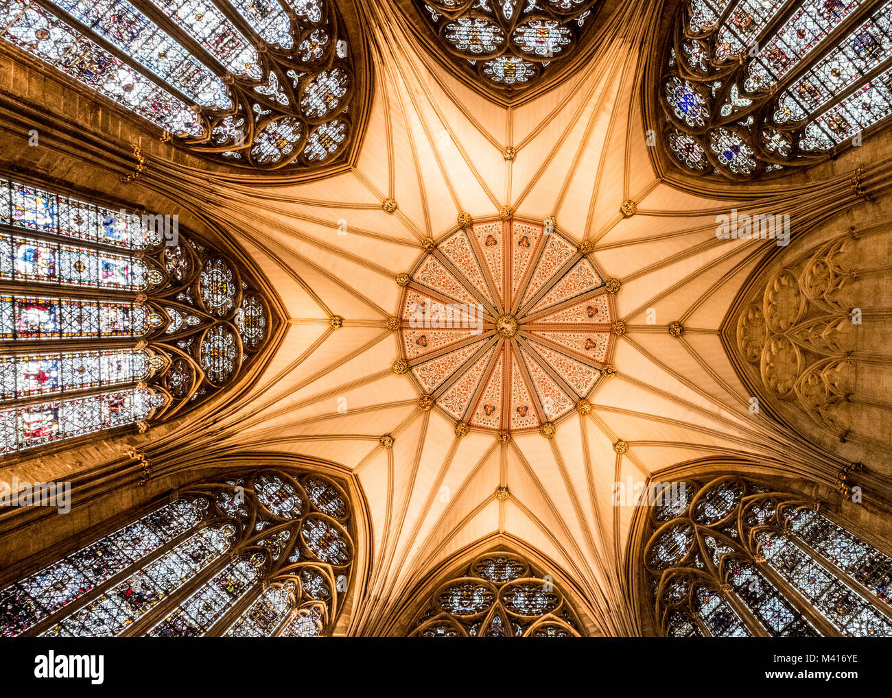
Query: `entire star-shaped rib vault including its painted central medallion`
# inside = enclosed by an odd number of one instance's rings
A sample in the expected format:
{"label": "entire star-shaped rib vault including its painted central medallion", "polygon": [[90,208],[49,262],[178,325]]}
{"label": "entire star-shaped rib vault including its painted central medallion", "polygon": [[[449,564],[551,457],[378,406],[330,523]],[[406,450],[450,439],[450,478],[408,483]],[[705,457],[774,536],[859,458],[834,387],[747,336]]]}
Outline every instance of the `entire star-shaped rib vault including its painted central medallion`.
{"label": "entire star-shaped rib vault including its painted central medallion", "polygon": [[[350,469],[368,504],[368,520],[357,522],[368,557],[357,563],[360,587],[344,632],[381,631],[390,599],[450,554],[501,536],[540,551],[574,579],[588,633],[634,635],[639,623],[625,579],[634,507],[612,504],[615,482],[641,482],[709,457],[750,457],[799,473],[817,463],[828,483],[838,468],[749,411],[750,394],[721,331],[773,241],[722,241],[714,230],[716,212],[732,208],[785,209],[800,214],[803,226],[817,222],[830,201],[858,201],[838,174],[857,160],[822,169],[822,183],[810,187],[794,178],[761,188],[720,184],[710,195],[696,193],[690,178],[670,183],[648,149],[648,104],[640,99],[658,8],[628,3],[616,12],[618,29],[590,62],[548,93],[503,108],[417,53],[397,8],[370,3],[373,104],[349,170],[275,187],[188,170],[170,177],[151,165],[143,178],[226,221],[287,319],[251,390],[186,430],[150,431],[137,443],[264,450]],[[806,205],[806,193],[827,203]],[[463,213],[471,218],[465,226]],[[544,235],[549,217],[557,226]],[[513,289],[511,302],[500,298],[498,273],[485,267],[497,264],[485,256],[486,225],[505,237],[497,242],[501,264],[514,254],[516,226],[525,225],[541,238],[533,241],[536,264],[559,273],[545,275],[534,291],[527,285],[519,299]],[[474,255],[464,271],[450,257],[461,235]],[[551,244],[564,249],[546,250]],[[447,260],[453,295],[443,275],[425,282],[431,259]],[[536,264],[512,273],[528,279]],[[585,278],[570,290],[562,283],[574,269]],[[477,272],[483,279],[475,284],[468,275]],[[503,274],[508,292],[516,280]],[[486,313],[483,334],[464,340],[473,350],[451,369],[430,372],[430,382],[416,370],[425,365],[420,357],[450,342],[422,347],[409,324],[409,297],[420,298],[425,283],[435,299],[480,302]],[[524,284],[516,285],[519,292]],[[536,340],[527,324],[578,312],[588,330],[590,308],[604,323],[591,336],[570,327],[563,344]],[[579,318],[558,324],[565,322]],[[567,329],[558,324],[545,332]],[[582,344],[570,346],[575,341]],[[502,349],[506,343],[516,355]],[[516,356],[536,413],[527,422],[508,398],[517,384],[508,360]],[[407,363],[395,370],[400,361]],[[464,374],[455,373],[459,365]],[[493,410],[500,420],[488,422],[483,377],[500,370],[507,376]],[[462,382],[457,405],[449,388],[440,389]],[[550,396],[542,387],[549,383]],[[425,395],[436,408],[419,400]],[[560,406],[553,416],[546,401]],[[63,470],[61,458],[32,467],[33,477],[45,479]]]}

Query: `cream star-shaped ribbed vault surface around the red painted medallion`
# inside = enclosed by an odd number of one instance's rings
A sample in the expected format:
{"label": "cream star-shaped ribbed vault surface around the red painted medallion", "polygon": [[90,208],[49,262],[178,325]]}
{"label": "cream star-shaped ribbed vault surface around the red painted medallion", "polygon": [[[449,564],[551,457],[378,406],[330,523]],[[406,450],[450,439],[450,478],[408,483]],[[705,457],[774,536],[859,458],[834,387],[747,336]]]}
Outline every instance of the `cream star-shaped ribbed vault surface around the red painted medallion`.
{"label": "cream star-shaped ribbed vault surface around the red painted medallion", "polygon": [[[211,204],[242,231],[290,317],[266,374],[216,416],[215,439],[357,473],[374,559],[352,632],[374,631],[384,600],[461,546],[504,532],[577,581],[600,632],[634,634],[622,610],[621,559],[633,507],[612,505],[613,483],[704,456],[776,451],[718,335],[772,241],[716,240],[715,209],[735,203],[682,193],[655,175],[640,113],[640,47],[656,19],[650,4],[624,5],[621,30],[580,72],[508,110],[417,53],[389,4],[369,4],[376,92],[355,168],[265,193],[221,185]],[[506,145],[515,160],[503,157]],[[386,199],[398,204],[392,214]],[[637,203],[632,218],[620,213],[626,200]],[[607,294],[626,324],[611,339],[616,375],[599,376],[591,391],[581,386],[574,401],[588,395],[591,413],[570,410],[553,439],[538,429],[500,439],[475,424],[458,438],[455,415],[423,409],[417,378],[392,371],[406,357],[404,332],[388,328],[403,316],[407,292],[394,276],[423,263],[426,238],[455,234],[461,211],[479,221],[505,205],[540,224],[555,216],[561,240],[574,250],[591,243],[598,273],[623,283]],[[332,327],[331,316],[343,326]],[[681,339],[667,331],[678,320]],[[392,448],[380,445],[384,434]],[[620,440],[628,450],[615,449]],[[506,501],[494,497],[500,485],[510,489]]]}

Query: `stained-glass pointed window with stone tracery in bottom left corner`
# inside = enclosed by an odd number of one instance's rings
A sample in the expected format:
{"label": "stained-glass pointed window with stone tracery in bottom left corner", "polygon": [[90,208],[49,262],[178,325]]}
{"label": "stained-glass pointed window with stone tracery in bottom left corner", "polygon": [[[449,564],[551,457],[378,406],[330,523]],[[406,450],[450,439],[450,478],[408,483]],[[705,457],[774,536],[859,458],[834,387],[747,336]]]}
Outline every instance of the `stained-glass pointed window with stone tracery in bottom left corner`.
{"label": "stained-glass pointed window with stone tracery in bottom left corner", "polygon": [[321,636],[349,588],[351,506],[324,475],[190,487],[0,591],[0,636]]}

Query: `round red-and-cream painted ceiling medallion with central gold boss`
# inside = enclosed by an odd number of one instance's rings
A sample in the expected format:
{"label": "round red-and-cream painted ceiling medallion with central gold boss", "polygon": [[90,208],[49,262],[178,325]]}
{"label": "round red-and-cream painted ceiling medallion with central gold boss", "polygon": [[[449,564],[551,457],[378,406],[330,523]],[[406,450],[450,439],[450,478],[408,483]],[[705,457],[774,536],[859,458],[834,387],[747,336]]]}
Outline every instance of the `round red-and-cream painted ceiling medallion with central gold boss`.
{"label": "round red-and-cream painted ceiling medallion with central gold boss", "polygon": [[409,273],[399,360],[422,395],[466,429],[553,425],[591,396],[611,357],[605,276],[552,230],[475,219]]}

